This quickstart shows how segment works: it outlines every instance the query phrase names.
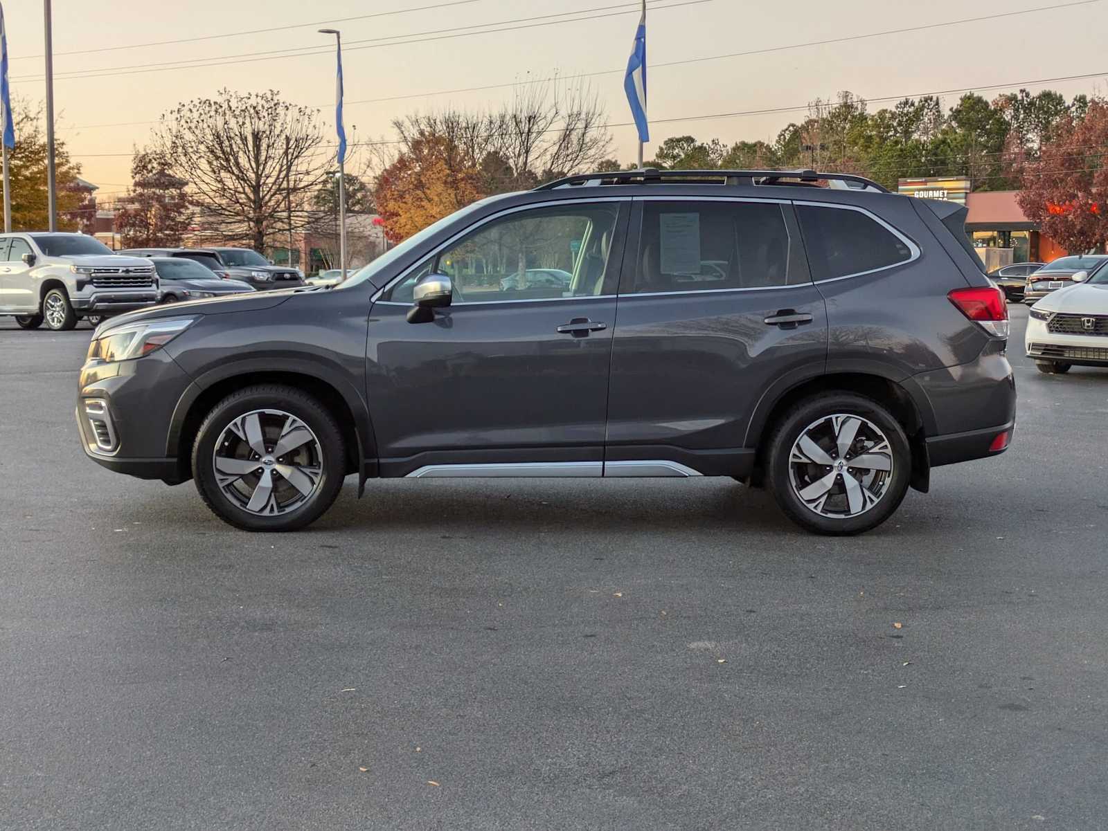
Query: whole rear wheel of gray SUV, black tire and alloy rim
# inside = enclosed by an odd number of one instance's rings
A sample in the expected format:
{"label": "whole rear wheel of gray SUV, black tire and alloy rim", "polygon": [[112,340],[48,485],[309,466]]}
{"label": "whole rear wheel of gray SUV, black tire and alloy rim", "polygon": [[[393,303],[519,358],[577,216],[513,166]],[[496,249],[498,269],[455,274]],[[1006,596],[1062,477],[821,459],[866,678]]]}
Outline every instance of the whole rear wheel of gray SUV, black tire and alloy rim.
{"label": "whole rear wheel of gray SUV, black tire and alloy rim", "polygon": [[830,536],[889,519],[912,474],[904,428],[854,393],[820,393],[794,405],[771,434],[766,461],[766,484],[786,516]]}

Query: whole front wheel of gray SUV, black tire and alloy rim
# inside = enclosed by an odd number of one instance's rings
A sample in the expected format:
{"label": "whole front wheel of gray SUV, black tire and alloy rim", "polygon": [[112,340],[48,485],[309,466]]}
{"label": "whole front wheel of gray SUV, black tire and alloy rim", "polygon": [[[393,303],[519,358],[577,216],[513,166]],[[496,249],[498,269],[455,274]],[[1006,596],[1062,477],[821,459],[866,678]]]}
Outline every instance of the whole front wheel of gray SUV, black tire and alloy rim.
{"label": "whole front wheel of gray SUV, black tire and alloy rim", "polygon": [[196,489],[219,519],[247,531],[291,531],[335,501],[346,447],[316,398],[267,384],[216,404],[196,434],[192,464]]}

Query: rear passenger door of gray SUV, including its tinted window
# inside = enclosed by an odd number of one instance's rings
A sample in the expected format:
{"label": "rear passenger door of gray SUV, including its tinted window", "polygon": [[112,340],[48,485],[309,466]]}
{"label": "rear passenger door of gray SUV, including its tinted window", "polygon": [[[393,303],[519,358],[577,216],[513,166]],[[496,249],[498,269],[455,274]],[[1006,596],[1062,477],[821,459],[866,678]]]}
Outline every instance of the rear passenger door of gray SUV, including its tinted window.
{"label": "rear passenger door of gray SUV, including its tinted window", "polygon": [[[612,353],[605,476],[742,474],[774,385],[827,361],[823,299],[787,200],[642,197]],[[674,475],[687,470],[671,469]]]}

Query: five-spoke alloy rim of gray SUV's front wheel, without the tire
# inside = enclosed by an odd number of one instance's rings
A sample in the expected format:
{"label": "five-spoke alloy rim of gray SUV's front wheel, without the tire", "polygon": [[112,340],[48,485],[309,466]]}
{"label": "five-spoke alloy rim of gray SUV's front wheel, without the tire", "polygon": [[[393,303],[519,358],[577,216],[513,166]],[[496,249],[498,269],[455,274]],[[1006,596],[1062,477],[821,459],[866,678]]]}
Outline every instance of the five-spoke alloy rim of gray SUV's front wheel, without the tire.
{"label": "five-spoke alloy rim of gray SUV's front wheel, without the tire", "polygon": [[324,451],[316,434],[280,409],[236,417],[219,434],[212,464],[224,496],[265,517],[301,507],[324,479]]}

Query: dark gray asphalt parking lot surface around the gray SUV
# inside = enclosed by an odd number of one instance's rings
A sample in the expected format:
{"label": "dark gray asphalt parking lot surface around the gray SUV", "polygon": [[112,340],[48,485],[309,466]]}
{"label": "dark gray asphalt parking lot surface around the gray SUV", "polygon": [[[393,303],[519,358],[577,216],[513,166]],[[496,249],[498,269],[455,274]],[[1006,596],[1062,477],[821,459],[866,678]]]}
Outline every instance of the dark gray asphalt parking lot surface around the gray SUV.
{"label": "dark gray asphalt parking lot surface around the gray SUV", "polygon": [[1108,371],[1013,315],[1012,449],[851,539],[722,479],[235,531],[84,458],[88,328],[0,319],[0,828],[1104,828]]}

